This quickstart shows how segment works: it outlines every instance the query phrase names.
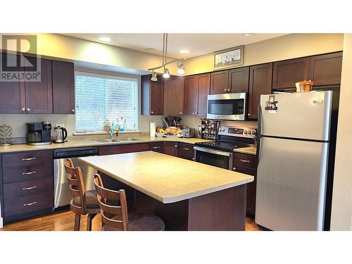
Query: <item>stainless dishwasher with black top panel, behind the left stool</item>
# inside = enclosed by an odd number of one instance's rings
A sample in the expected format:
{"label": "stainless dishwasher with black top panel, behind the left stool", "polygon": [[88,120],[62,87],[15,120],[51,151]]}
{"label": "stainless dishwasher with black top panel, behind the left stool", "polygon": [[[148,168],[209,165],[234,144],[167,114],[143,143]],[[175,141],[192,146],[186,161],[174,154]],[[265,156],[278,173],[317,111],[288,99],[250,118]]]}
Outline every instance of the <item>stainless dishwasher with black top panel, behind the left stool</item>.
{"label": "stainless dishwasher with black top panel, behind the left stool", "polygon": [[81,163],[77,158],[84,156],[98,155],[98,148],[74,148],[74,149],[58,149],[54,151],[54,208],[67,206],[70,204],[72,194],[68,184],[67,174],[65,171],[65,163],[67,158],[72,159],[75,167],[82,170],[85,190],[95,189],[94,173],[97,171],[88,165]]}

